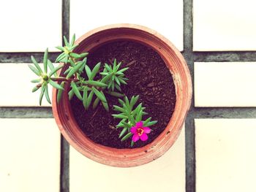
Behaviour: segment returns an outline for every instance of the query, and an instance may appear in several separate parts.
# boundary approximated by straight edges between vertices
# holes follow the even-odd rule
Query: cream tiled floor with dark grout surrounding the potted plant
[[[4,1],[0,191],[256,191],[255,5],[254,0]],[[56,52],[63,34],[80,37],[110,23],[148,26],[170,39],[186,58],[194,85],[185,132],[175,145],[156,161],[129,169],[97,164],[69,150],[64,140],[60,145],[50,105],[43,101],[39,107],[38,95],[31,93],[35,77],[26,64],[28,55],[39,58],[46,47]]]

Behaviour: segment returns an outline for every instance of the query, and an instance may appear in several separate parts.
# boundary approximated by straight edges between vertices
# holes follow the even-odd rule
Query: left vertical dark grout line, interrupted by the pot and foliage
[[[70,1],[62,0],[62,36],[69,39]],[[62,38],[62,45],[64,40]],[[69,192],[69,144],[61,135],[61,177],[60,192]]]

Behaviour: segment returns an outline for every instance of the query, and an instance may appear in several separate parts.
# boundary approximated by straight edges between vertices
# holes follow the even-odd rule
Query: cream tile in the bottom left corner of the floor
[[[60,134],[55,120],[0,118],[0,154],[0,191],[59,191]]]

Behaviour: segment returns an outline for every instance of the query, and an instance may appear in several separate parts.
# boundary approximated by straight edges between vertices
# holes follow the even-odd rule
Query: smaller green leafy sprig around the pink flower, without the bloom
[[[118,114],[113,114],[112,116],[114,118],[120,118],[120,122],[116,126],[116,128],[123,128],[121,133],[119,134],[119,138],[121,138],[121,141],[124,141],[132,136],[130,129],[132,126],[135,126],[136,123],[139,121],[143,121],[143,126],[153,126],[157,123],[157,120],[151,120],[151,118],[148,118],[146,120],[143,120],[143,115],[147,115],[147,113],[144,111],[146,107],[142,106],[142,103],[138,104],[136,107],[136,103],[139,99],[139,96],[132,96],[132,98],[129,99],[127,96],[124,97],[124,100],[118,99],[120,106],[114,105],[114,110],[119,112]],[[134,145],[132,142],[131,145]]]

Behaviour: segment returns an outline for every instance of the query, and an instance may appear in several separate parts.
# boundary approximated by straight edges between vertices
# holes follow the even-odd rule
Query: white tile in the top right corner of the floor
[[[256,50],[255,0],[194,0],[194,50]]]

